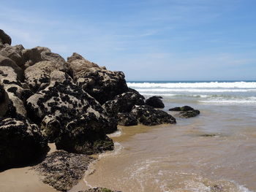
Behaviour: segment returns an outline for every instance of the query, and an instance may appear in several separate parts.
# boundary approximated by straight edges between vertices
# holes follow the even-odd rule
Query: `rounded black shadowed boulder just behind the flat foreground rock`
[[[111,123],[104,115],[91,110],[67,124],[56,139],[56,147],[86,155],[113,150],[112,139],[105,135],[105,131],[110,127]]]

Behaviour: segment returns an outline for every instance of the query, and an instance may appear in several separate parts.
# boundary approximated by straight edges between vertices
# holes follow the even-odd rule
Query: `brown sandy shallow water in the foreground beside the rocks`
[[[219,110],[202,110],[176,125],[121,127],[121,134],[112,134],[115,151],[99,155],[91,174],[71,191],[255,191],[255,119],[239,118],[241,109]]]

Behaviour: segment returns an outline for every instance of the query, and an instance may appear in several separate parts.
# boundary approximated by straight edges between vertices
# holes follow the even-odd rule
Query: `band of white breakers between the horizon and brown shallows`
[[[256,81],[129,81],[144,96],[161,95],[213,104],[256,104]]]

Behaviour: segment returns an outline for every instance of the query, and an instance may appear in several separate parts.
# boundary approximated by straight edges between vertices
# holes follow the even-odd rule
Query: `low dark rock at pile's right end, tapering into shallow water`
[[[165,123],[176,123],[176,119],[172,115],[162,110],[155,110],[153,107],[146,105],[135,105],[132,108],[132,114],[145,126],[156,126]]]

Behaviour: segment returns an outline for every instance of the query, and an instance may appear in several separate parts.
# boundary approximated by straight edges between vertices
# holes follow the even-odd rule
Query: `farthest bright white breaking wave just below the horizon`
[[[127,82],[131,88],[256,88],[256,82]]]

